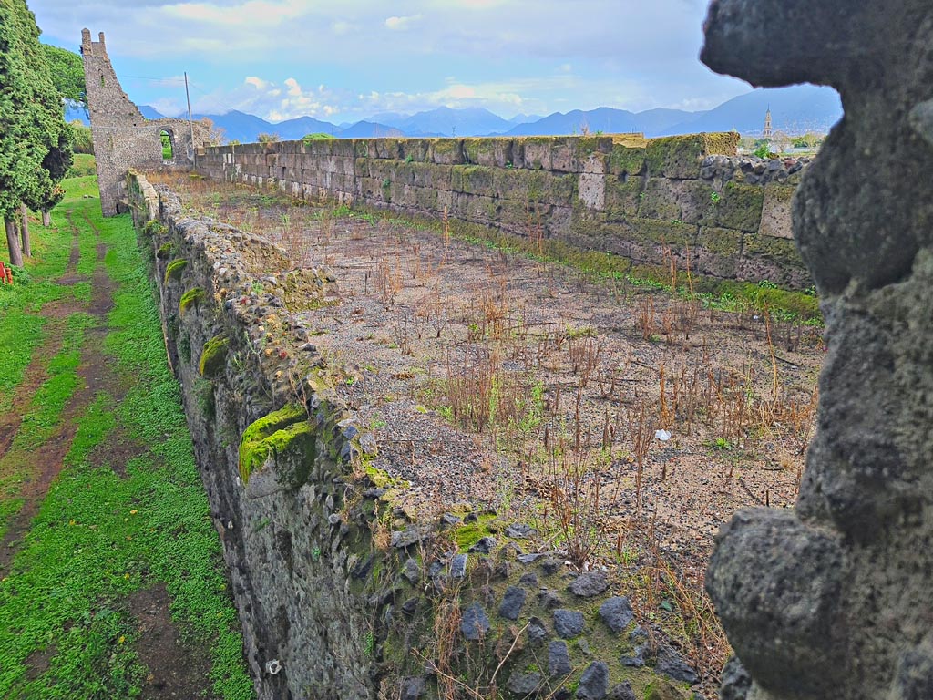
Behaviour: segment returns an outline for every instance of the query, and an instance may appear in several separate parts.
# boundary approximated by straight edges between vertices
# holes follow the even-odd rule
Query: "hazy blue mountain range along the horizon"
[[[297,140],[308,133],[329,133],[338,138],[370,138],[641,132],[652,138],[728,131],[759,135],[764,126],[765,112],[769,109],[774,131],[787,133],[827,132],[842,117],[842,103],[836,91],[813,85],[796,85],[747,92],[713,109],[699,112],[662,108],[630,112],[598,107],[565,114],[555,112],[547,117],[520,115],[503,119],[481,107],[438,107],[413,115],[383,112],[363,121],[338,125],[312,117],[272,123],[234,109],[226,114],[196,114],[194,119],[211,119],[217,128],[223,129],[229,141],[241,143],[256,141],[260,133],[275,133],[283,141]],[[140,111],[146,119],[162,117],[147,105],[141,106]],[[68,110],[65,116],[69,120],[79,119],[88,123],[83,110]]]

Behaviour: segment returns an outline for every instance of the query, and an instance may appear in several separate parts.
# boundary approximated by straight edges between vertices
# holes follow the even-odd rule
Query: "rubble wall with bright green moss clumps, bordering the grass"
[[[697,697],[696,672],[635,619],[611,571],[576,575],[489,511],[414,521],[394,505],[406,484],[369,465],[376,441],[290,311],[307,307],[298,289],[334,300],[327,270],[186,216],[142,176],[128,191],[260,700],[428,700],[457,683]]]

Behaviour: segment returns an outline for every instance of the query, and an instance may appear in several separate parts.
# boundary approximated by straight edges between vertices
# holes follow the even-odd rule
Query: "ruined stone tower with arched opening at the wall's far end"
[[[101,208],[105,217],[126,210],[124,177],[131,168],[159,168],[194,165],[195,147],[202,147],[208,133],[201,123],[192,125],[184,119],[146,119],[120,87],[104,45],[104,33],[91,41],[91,32],[81,31],[81,55],[91,137],[101,189]],[[169,135],[173,157],[162,158],[160,134]]]

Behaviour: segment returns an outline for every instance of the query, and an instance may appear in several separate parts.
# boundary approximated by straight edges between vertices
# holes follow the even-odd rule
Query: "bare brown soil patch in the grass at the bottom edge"
[[[172,622],[172,599],[161,583],[130,598],[130,613],[138,621],[135,648],[149,672],[143,700],[214,698],[210,693],[210,659],[202,648],[188,644]]]

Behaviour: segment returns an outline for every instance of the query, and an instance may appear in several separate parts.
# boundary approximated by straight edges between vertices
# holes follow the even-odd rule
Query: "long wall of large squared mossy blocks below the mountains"
[[[812,285],[790,233],[805,161],[735,157],[738,134],[357,139],[209,147],[200,172],[296,197],[558,238],[637,264]]]

